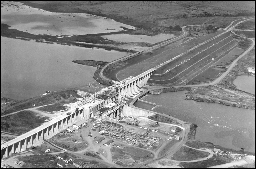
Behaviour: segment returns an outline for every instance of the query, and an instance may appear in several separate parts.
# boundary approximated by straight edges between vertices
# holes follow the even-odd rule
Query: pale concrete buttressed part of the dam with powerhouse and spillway
[[[73,124],[89,119],[92,115],[117,117],[122,100],[134,98],[155,69],[148,70],[136,77],[128,77],[121,82],[71,105],[71,110],[19,137],[1,145],[1,159],[25,151],[27,148],[41,145],[44,140],[55,136]]]

